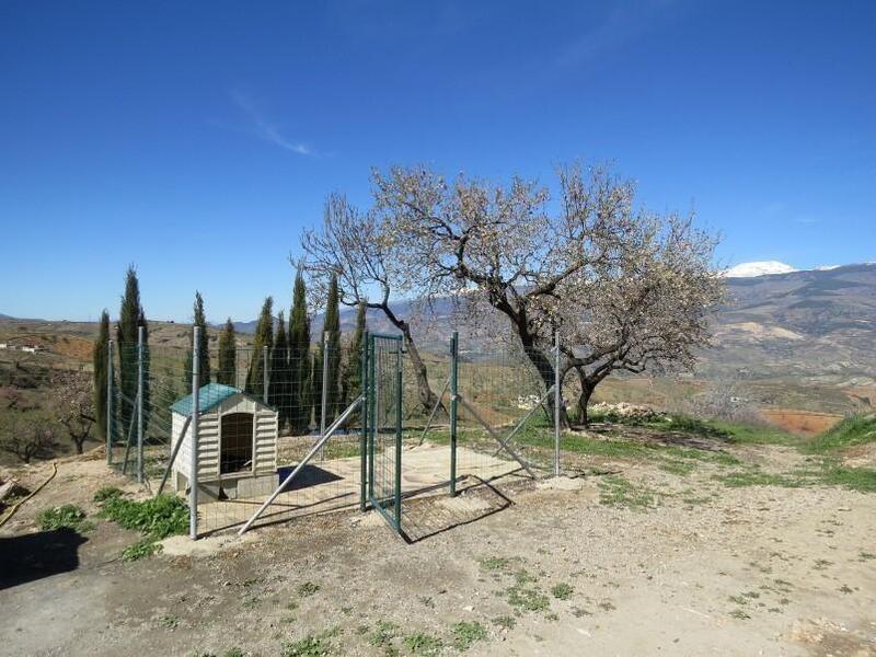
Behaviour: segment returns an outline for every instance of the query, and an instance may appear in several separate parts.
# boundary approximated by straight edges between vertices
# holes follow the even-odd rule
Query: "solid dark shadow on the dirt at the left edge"
[[[87,541],[69,528],[0,538],[0,590],[76,570]]]

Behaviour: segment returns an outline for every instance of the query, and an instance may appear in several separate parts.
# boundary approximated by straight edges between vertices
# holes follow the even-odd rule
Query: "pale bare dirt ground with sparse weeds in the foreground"
[[[802,459],[723,449],[765,471]],[[67,459],[0,529],[0,654],[876,655],[876,495],[728,487],[711,462],[587,465],[411,502],[428,525],[413,543],[350,511],[123,562],[139,537],[112,522],[36,528],[47,506],[96,511],[102,485],[136,492]],[[612,506],[618,473],[641,504]]]

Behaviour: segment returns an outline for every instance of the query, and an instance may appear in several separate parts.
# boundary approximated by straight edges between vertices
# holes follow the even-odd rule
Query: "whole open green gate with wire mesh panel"
[[[402,337],[370,335],[368,369],[368,499],[401,533]]]

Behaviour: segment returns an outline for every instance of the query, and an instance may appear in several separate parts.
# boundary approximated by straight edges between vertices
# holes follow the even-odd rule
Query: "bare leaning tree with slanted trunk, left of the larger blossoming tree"
[[[411,320],[391,307],[400,291],[429,299],[428,289],[416,287],[405,266],[395,227],[379,212],[361,212],[346,197],[333,194],[325,201],[323,224],[307,231],[301,240],[310,290],[321,299],[327,296],[332,276],[337,277],[338,300],[344,306],[364,304],[378,310],[402,334],[411,358],[419,403],[426,412],[437,402],[427,378],[426,366],[414,341]],[[377,299],[369,298],[377,292]]]

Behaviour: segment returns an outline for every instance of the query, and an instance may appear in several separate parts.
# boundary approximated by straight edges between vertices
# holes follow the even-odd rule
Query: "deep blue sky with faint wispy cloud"
[[[611,161],[725,264],[876,260],[874,2],[0,3],[0,312],[247,320],[371,166]]]

